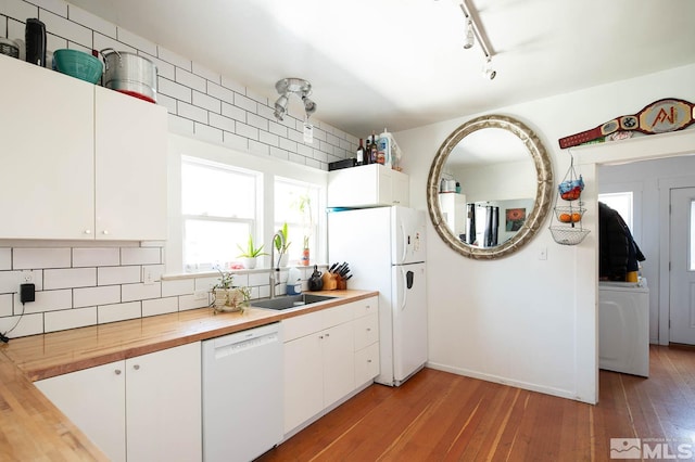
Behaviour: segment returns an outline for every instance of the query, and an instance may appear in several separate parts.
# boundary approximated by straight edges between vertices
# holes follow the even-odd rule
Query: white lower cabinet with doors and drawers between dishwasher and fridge
[[[286,435],[379,374],[377,310],[372,297],[282,321]]]

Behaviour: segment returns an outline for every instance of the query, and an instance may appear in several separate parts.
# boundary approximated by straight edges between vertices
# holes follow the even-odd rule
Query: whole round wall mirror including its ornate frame
[[[427,206],[442,240],[468,258],[507,256],[527,244],[551,210],[553,169],[538,136],[501,115],[454,130],[434,156]]]

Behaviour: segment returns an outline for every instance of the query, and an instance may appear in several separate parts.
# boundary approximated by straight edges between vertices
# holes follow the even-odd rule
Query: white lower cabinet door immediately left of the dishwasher
[[[200,342],[126,360],[128,462],[202,459]]]

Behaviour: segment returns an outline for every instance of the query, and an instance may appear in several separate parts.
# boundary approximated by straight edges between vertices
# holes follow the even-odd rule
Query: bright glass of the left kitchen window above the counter
[[[261,174],[193,157],[181,159],[184,268],[229,268],[237,244],[257,241]]]

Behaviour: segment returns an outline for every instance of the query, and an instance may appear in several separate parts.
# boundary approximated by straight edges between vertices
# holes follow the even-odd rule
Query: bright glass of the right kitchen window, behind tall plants
[[[289,261],[299,262],[305,241],[309,248],[309,258],[318,257],[318,206],[319,187],[276,177],[275,179],[275,230],[288,224]]]

